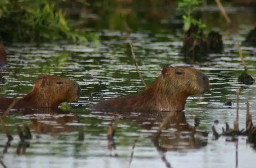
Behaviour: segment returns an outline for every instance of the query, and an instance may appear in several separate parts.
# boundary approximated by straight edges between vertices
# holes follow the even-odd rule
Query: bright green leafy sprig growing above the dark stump
[[[177,10],[184,11],[186,15],[182,16],[184,20],[184,31],[188,31],[191,24],[198,25],[199,30],[202,30],[206,27],[204,23],[202,23],[201,19],[195,19],[192,17],[192,12],[199,8],[199,5],[202,4],[202,0],[180,0],[178,3]]]

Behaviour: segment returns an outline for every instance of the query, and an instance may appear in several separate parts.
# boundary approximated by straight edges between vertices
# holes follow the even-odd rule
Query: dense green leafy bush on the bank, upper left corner
[[[71,39],[86,42],[87,34],[68,26],[65,0],[0,0],[0,35],[4,41],[43,42]]]

